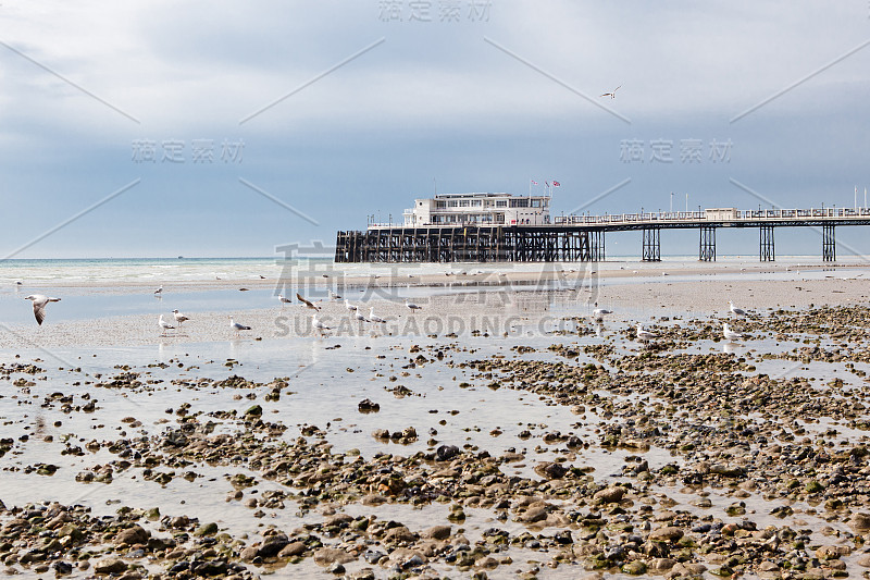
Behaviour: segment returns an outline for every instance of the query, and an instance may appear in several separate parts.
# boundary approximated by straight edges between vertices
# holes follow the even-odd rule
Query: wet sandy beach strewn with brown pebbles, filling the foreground
[[[186,311],[166,336],[153,313],[52,320],[63,300],[9,325],[0,560],[128,580],[860,576],[870,310],[842,270],[341,287],[385,323],[313,286],[316,311],[282,307],[269,281],[67,286],[171,322],[212,291],[271,306]]]

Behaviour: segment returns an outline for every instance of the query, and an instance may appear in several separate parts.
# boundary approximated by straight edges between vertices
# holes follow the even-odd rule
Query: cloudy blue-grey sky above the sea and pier
[[[435,184],[556,180],[555,213],[870,186],[867,0],[3,0],[0,41],[3,257],[273,256]],[[862,232],[837,236],[870,254]],[[778,230],[778,255],[820,248]]]

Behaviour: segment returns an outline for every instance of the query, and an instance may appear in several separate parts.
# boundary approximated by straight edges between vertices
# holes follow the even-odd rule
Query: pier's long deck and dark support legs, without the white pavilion
[[[557,215],[544,224],[371,223],[364,232],[338,232],[336,262],[554,262],[602,261],[608,232],[641,232],[641,259],[661,260],[662,230],[698,230],[698,259],[716,261],[721,227],[757,229],[760,261],[775,260],[776,227],[821,232],[822,260],[836,260],[835,229],[870,225],[870,208],[810,208]]]

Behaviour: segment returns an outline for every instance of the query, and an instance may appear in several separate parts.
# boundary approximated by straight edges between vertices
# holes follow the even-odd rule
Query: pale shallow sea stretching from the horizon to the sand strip
[[[718,258],[716,264],[730,268],[710,274],[710,262],[696,256],[664,256],[661,262],[643,262],[636,256],[613,256],[602,262],[494,262],[494,263],[335,263],[332,256],[291,256],[288,258],[89,258],[89,259],[9,259],[0,261],[0,323],[33,322],[33,312],[22,307],[29,294],[61,297],[64,307],[51,308],[51,317],[61,320],[91,320],[105,317],[160,312],[153,292],[163,286],[163,296],[172,295],[173,308],[184,312],[239,310],[271,306],[278,294],[293,297],[296,292],[312,297],[327,297],[327,289],[344,291],[345,280],[365,280],[371,286],[394,284],[390,299],[455,293],[504,291],[498,273],[579,271],[583,284],[645,284],[709,279],[775,280],[821,279],[860,275],[858,266],[823,263],[818,256],[783,256],[775,262],[759,264],[755,256]],[[761,266],[761,267],[760,267]],[[801,271],[804,269],[804,271]],[[626,271],[631,277],[598,277],[604,271]],[[745,270],[745,271],[741,271]],[[422,286],[413,277],[438,273],[473,274],[464,282],[457,277]],[[670,273],[664,277],[662,274]],[[410,276],[410,277],[409,277]],[[546,277],[546,276],[545,276]],[[316,281],[316,287],[310,282]],[[471,284],[469,284],[471,280]],[[222,284],[221,281],[225,282]],[[246,281],[249,292],[238,292]],[[273,283],[264,283],[272,281]],[[202,283],[209,282],[209,285]],[[577,282],[574,282],[575,284]],[[512,289],[564,289],[562,281],[519,283]],[[378,291],[374,291],[378,292]],[[25,305],[26,306],[26,305]]]

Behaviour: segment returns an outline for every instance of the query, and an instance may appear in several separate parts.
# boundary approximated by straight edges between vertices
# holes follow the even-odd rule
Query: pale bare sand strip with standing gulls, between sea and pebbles
[[[577,284],[562,288],[534,288],[531,285],[453,287],[456,292],[430,292],[423,296],[414,296],[414,301],[423,307],[419,312],[410,312],[399,293],[384,297],[376,292],[377,287],[361,286],[373,292],[365,293],[360,298],[351,298],[351,303],[358,305],[366,317],[369,308],[374,308],[377,316],[386,319],[387,323],[358,322],[353,313],[345,308],[344,300],[315,300],[315,305],[321,308],[316,312],[319,319],[331,328],[324,333],[312,329],[311,317],[314,311],[301,306],[295,297],[294,303],[285,308],[271,306],[185,310],[184,313],[190,320],[182,329],[171,331],[169,336],[160,335],[156,313],[52,321],[49,312],[42,326],[30,322],[7,325],[8,332],[0,334],[0,348],[129,347],[306,336],[414,337],[450,332],[461,335],[474,331],[492,335],[511,335],[518,332],[540,334],[552,329],[575,332],[576,325],[569,324],[569,321],[582,319],[583,324],[588,324],[588,316],[596,303],[613,311],[608,317],[609,323],[633,325],[661,317],[728,317],[729,299],[756,314],[769,309],[793,310],[870,301],[870,285],[863,279],[681,281],[674,275],[673,279],[644,284],[635,283],[631,277],[609,280],[617,282],[592,286]],[[171,293],[161,299],[160,305],[153,306],[160,306],[160,311],[165,311],[164,318],[174,323],[170,313],[173,308]],[[229,314],[253,330],[237,337],[229,328]]]

